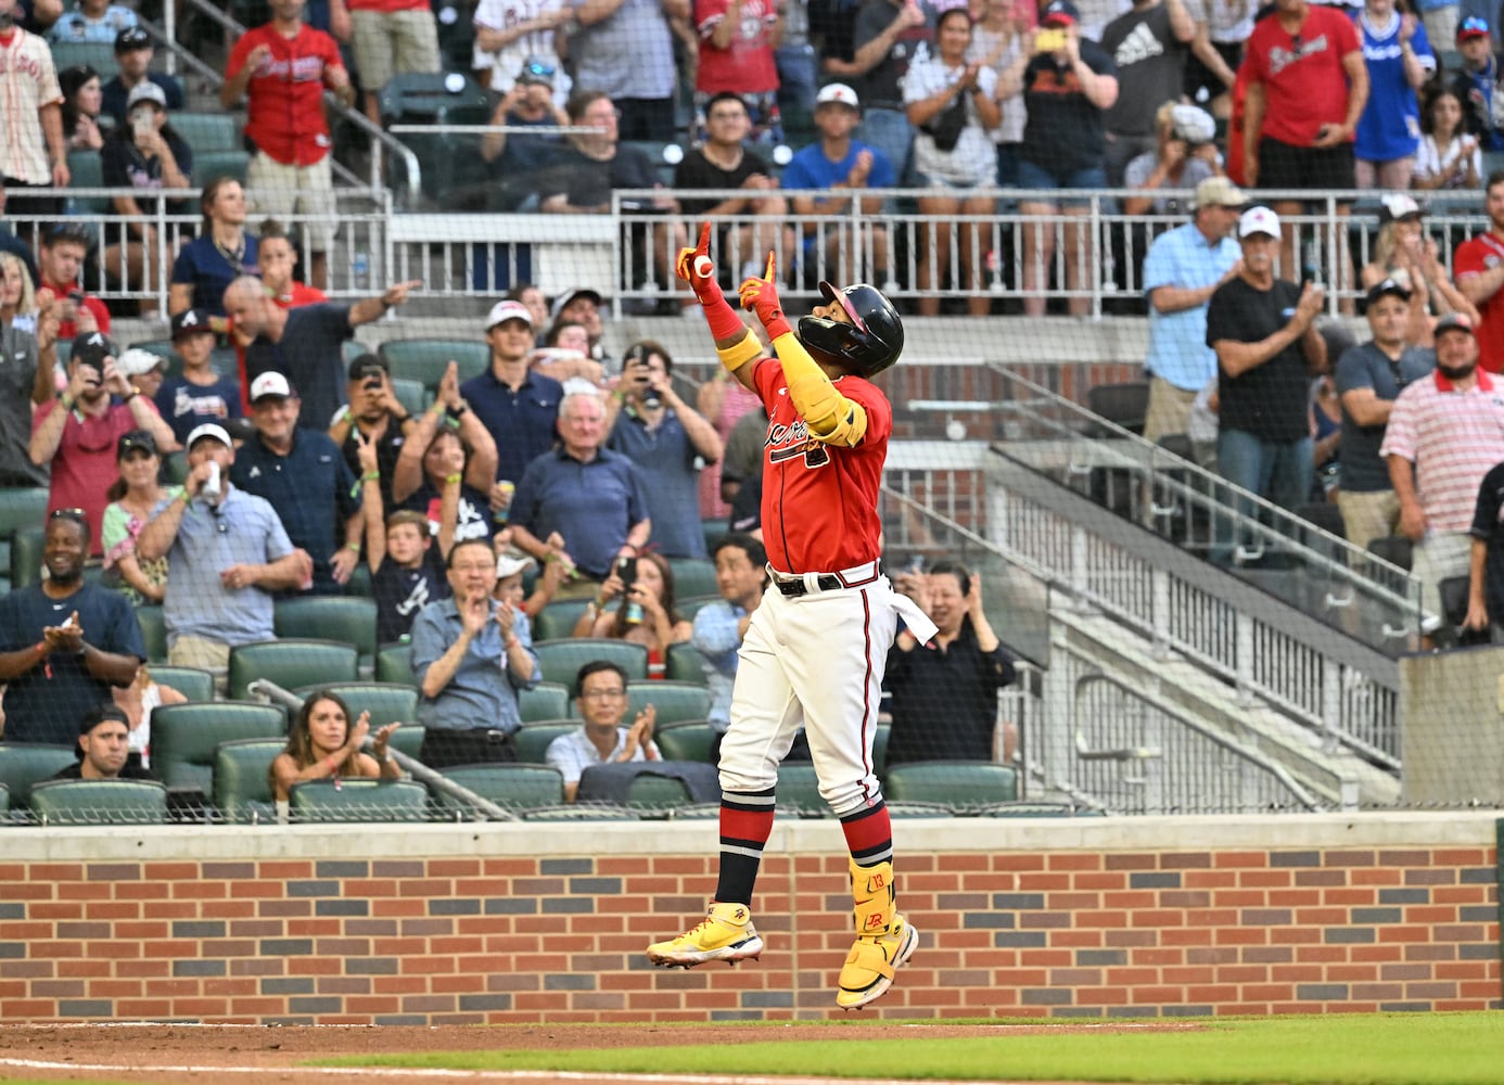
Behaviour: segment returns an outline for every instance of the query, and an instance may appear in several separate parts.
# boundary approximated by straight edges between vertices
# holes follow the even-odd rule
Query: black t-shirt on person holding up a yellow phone
[[[1081,39],[1081,60],[1098,75],[1117,75],[1113,59],[1089,38]],[[1024,68],[1023,83],[1029,120],[1018,153],[1056,174],[1099,170],[1107,147],[1107,114],[1081,93],[1071,66],[1056,65],[1053,53],[1041,53]],[[1155,108],[1160,104],[1163,99]]]

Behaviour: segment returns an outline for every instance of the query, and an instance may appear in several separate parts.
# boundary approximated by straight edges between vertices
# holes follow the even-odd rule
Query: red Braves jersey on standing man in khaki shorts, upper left
[[[340,47],[310,26],[283,38],[268,23],[247,30],[230,50],[226,78],[235,78],[257,45],[271,57],[247,86],[245,134],[256,147],[283,165],[313,165],[329,153],[329,125],[323,119],[323,77],[341,69]]]

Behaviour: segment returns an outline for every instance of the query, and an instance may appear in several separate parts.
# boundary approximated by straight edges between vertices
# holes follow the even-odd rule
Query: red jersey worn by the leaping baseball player
[[[832,573],[878,558],[883,526],[877,491],[883,484],[893,409],[877,385],[839,377],[842,395],[866,412],[866,436],[856,448],[809,436],[788,395],[784,367],[755,362],[752,380],[767,407],[763,440],[763,546],[781,573]]]

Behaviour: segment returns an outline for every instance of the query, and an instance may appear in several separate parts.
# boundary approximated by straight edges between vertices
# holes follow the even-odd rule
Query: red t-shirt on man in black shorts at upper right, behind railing
[[[1348,72],[1342,59],[1361,48],[1352,20],[1336,8],[1307,8],[1296,35],[1284,32],[1278,15],[1257,23],[1242,63],[1250,81],[1263,84],[1260,135],[1308,147],[1322,125],[1340,125],[1348,117]]]

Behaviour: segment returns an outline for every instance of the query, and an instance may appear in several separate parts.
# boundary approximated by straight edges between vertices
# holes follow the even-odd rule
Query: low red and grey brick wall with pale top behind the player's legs
[[[1499,1008],[1492,815],[896,824],[884,1016]],[[839,1016],[833,822],[781,822],[761,962],[651,969],[714,822],[6,830],[0,1019]]]

